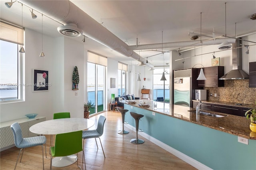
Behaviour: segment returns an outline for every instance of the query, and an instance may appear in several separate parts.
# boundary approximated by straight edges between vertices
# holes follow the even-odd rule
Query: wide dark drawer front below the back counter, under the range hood
[[[227,114],[236,115],[236,116],[244,116],[242,107],[213,104],[212,111],[220,112],[220,113],[227,113]]]

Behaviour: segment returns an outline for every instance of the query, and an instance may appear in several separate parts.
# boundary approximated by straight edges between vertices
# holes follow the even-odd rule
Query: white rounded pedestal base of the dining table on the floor
[[[77,161],[76,154],[69,155],[69,156],[60,156],[54,157],[52,159],[52,166],[55,167],[64,167],[74,164]]]

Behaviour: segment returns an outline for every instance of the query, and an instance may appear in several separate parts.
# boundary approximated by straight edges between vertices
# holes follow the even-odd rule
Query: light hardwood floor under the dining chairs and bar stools
[[[86,158],[87,170],[194,170],[183,160],[170,154],[166,150],[153,144],[147,139],[139,135],[139,138],[145,140],[143,144],[132,144],[130,139],[136,137],[136,133],[132,130],[128,134],[118,134],[118,130],[122,130],[122,117],[119,112],[104,112],[90,119],[97,124],[98,117],[103,115],[106,117],[104,126],[104,134],[100,137],[103,149],[106,155],[102,152],[99,139],[97,138],[99,149],[94,138],[86,139],[84,141],[84,152]],[[96,128],[96,125],[91,129]],[[50,154],[49,144],[50,135],[46,135],[46,152],[47,158],[44,155],[44,169],[50,169]],[[0,155],[0,170],[14,169],[16,158],[19,153],[19,148],[13,147],[4,150]],[[82,152],[78,154],[78,165],[82,166]],[[83,164],[84,170],[84,164]],[[18,162],[16,170],[38,170],[42,169],[42,148],[41,146],[34,146],[24,150],[22,163]],[[57,168],[52,167],[52,170],[74,170],[79,169],[75,164],[70,166]]]

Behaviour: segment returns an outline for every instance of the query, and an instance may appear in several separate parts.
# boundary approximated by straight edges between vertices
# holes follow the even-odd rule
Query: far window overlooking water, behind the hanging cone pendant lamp
[[[164,69],[166,72],[166,81],[160,81],[163,69],[154,69],[153,71],[153,100],[157,97],[163,97],[164,102],[170,102],[170,69]],[[161,100],[160,100],[161,101]]]

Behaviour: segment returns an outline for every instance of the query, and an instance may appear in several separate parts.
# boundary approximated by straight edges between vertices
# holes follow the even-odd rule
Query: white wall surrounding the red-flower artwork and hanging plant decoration
[[[47,120],[53,113],[69,111],[71,117],[83,117],[83,77],[84,47],[69,38],[43,37],[45,57],[39,57],[41,33],[26,29],[25,34],[25,83],[32,83],[32,69],[48,70],[48,82],[52,84],[48,91],[32,92],[25,87],[25,101],[0,105],[0,121],[9,121],[25,117],[28,113],[38,113]],[[80,83],[78,96],[72,91],[72,73],[78,67]]]

